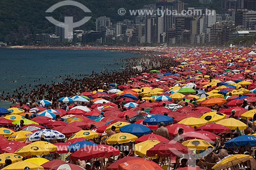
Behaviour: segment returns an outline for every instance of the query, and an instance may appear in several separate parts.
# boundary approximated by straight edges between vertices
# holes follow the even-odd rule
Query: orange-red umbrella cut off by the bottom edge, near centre
[[[132,170],[135,167],[136,169],[155,169],[155,170],[163,170],[163,168],[150,160],[131,160],[124,163],[120,163],[118,166],[118,170]]]

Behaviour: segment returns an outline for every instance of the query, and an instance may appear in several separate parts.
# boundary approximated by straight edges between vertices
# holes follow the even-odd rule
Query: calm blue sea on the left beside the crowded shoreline
[[[13,94],[16,88],[30,91],[37,84],[62,82],[65,75],[92,74],[102,69],[120,70],[119,59],[139,57],[137,54],[93,50],[28,50],[0,48],[0,95]],[[117,63],[118,62],[118,63]],[[59,77],[61,76],[61,77]],[[22,91],[21,90],[21,91]],[[6,95],[6,94],[4,94]],[[0,107],[9,108],[10,102]]]

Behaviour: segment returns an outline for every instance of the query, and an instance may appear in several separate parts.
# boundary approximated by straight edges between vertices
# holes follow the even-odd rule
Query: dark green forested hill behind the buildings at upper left
[[[143,5],[155,4],[156,0],[76,0],[87,6],[92,13],[84,13],[74,6],[60,7],[53,13],[45,13],[60,0],[1,0],[0,1],[0,41],[22,44],[31,40],[36,33],[53,33],[55,27],[45,17],[53,16],[63,22],[64,16],[73,16],[75,21],[84,16],[92,19],[79,29],[95,30],[95,20],[99,16],[110,17],[113,22],[133,19],[129,15],[120,16],[119,8],[139,9]],[[198,2],[198,0],[189,0]],[[187,1],[189,3],[189,1]],[[219,0],[215,0],[219,1]],[[192,3],[193,4],[193,3]]]

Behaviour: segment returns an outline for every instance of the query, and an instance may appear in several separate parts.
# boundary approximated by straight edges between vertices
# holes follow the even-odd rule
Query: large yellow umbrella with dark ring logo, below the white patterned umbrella
[[[32,142],[25,147],[18,149],[14,154],[21,156],[32,156],[32,155],[48,155],[50,152],[55,152],[57,147],[46,141]]]

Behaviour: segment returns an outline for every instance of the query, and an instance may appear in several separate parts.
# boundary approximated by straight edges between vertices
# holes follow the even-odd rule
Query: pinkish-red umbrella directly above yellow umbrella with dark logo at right
[[[215,142],[216,138],[220,138],[220,136],[207,131],[186,132],[181,137],[184,139],[203,139],[207,142]]]

